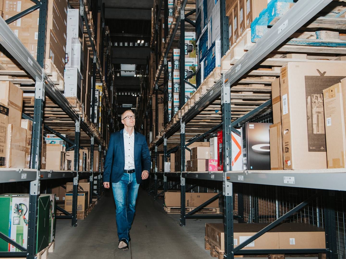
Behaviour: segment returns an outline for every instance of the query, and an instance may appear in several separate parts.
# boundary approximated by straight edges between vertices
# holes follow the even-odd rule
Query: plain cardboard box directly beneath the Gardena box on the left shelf
[[[65,170],[66,152],[60,144],[47,144],[46,170]]]

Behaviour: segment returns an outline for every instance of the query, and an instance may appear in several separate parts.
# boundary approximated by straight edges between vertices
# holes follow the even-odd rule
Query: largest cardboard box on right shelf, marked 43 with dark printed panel
[[[323,90],[346,77],[345,67],[329,61],[281,68],[284,169],[327,168]]]

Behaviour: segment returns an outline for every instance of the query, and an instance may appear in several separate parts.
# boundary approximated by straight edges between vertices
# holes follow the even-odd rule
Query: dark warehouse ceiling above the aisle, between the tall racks
[[[148,45],[151,37],[153,2],[153,0],[103,0],[105,24],[109,27],[113,46],[113,64],[116,75],[119,76],[116,77],[119,114],[128,109],[128,107],[121,107],[122,104],[133,104],[133,106],[136,104],[136,96],[132,93],[139,92],[140,77],[121,76],[121,74],[124,75],[121,64],[136,65],[134,66],[136,74],[145,70],[147,58],[150,55]]]

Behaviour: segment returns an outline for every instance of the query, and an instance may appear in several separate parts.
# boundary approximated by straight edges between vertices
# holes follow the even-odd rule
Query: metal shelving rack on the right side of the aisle
[[[225,19],[225,0],[219,0],[221,11],[221,46],[222,55],[228,49],[228,37],[226,32],[228,29],[228,20]],[[167,186],[167,178],[175,177],[180,182],[173,184],[173,186],[181,185],[181,226],[185,226],[186,218],[198,218],[191,214],[197,212],[199,209],[210,203],[213,199],[205,202],[194,211],[185,214],[185,192],[190,188],[185,188],[185,179],[199,179],[205,181],[219,181],[223,184],[222,196],[224,199],[224,226],[225,226],[225,258],[234,258],[235,255],[260,255],[272,253],[326,253],[327,258],[338,258],[337,242],[336,242],[336,217],[333,207],[335,202],[334,191],[346,191],[344,182],[346,180],[345,169],[324,169],[324,170],[278,170],[278,171],[231,171],[231,131],[238,133],[236,127],[242,125],[244,122],[251,121],[251,119],[258,118],[259,116],[265,117],[271,110],[271,100],[263,102],[256,108],[251,109],[245,115],[234,116],[232,113],[231,105],[231,87],[245,75],[261,75],[255,66],[261,62],[268,54],[276,48],[285,44],[294,32],[309,22],[310,19],[315,17],[319,11],[325,8],[332,0],[299,0],[294,6],[285,13],[276,24],[268,30],[268,32],[258,42],[252,46],[236,63],[231,66],[227,71],[221,71],[221,79],[212,85],[206,94],[201,98],[194,101],[189,105],[188,111],[182,109],[178,112],[176,118],[172,118],[171,123],[165,127],[164,131],[158,135],[149,144],[152,152],[155,152],[155,166],[154,172],[151,173],[154,177],[154,184],[149,182],[149,193],[151,187],[154,186],[154,198],[156,199],[158,176],[163,176],[163,189],[172,188]],[[158,1],[158,6],[161,10],[162,0]],[[185,0],[181,1],[182,10]],[[183,19],[183,15],[180,16]],[[345,24],[345,18],[338,20],[339,23]],[[157,27],[156,27],[157,29]],[[157,31],[156,31],[157,32]],[[173,31],[173,33],[175,33]],[[154,36],[155,37],[155,36]],[[172,38],[171,38],[172,39]],[[158,67],[158,73],[161,73],[162,67]],[[273,73],[273,72],[271,72]],[[264,75],[264,74],[263,74]],[[273,73],[270,75],[277,74]],[[157,80],[155,81],[154,88],[157,88]],[[157,98],[156,98],[157,100]],[[213,113],[222,111],[222,115],[214,116],[210,122],[203,121],[206,116],[212,116]],[[146,116],[146,114],[144,114]],[[202,122],[202,123],[201,123]],[[151,125],[152,123],[150,123]],[[143,126],[142,126],[143,128]],[[222,128],[223,131],[223,172],[186,172],[185,171],[185,152],[181,152],[180,172],[157,172],[157,153],[164,153],[164,161],[167,161],[167,155],[175,152],[179,146],[184,150],[195,141],[203,140],[208,136],[215,135],[215,133]],[[188,139],[188,144],[185,144],[185,139]],[[287,181],[289,178],[289,181]],[[286,179],[286,180],[285,180]],[[178,180],[178,181],[179,181]],[[298,189],[312,189],[316,194],[312,194],[303,202],[294,206],[287,213],[269,224],[267,227],[256,233],[253,237],[247,239],[245,242],[234,247],[233,239],[233,219],[237,218],[233,214],[234,207],[234,189],[236,185],[253,184],[258,186],[285,186],[297,187]],[[218,194],[219,195],[219,194]],[[217,195],[217,196],[218,196]],[[239,194],[238,194],[239,195]],[[260,237],[268,230],[277,226],[283,220],[289,218],[293,213],[299,211],[306,206],[318,195],[326,200],[324,203],[323,220],[325,226],[326,236],[326,249],[279,249],[279,250],[241,250],[249,243]],[[217,198],[217,197],[214,197]],[[239,196],[238,196],[239,199]],[[239,206],[240,203],[238,203]],[[238,210],[241,209],[238,207]],[[240,213],[239,213],[240,214]],[[344,214],[343,214],[344,215]],[[342,215],[342,217],[343,217]],[[239,217],[239,215],[238,215]]]

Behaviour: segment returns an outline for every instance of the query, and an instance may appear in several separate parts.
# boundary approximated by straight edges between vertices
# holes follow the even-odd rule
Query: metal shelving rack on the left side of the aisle
[[[73,178],[73,204],[72,213],[66,212],[57,206],[57,209],[61,210],[66,214],[62,216],[63,218],[72,219],[71,226],[77,226],[77,193],[78,193],[78,181],[80,179],[89,179],[90,190],[89,193],[93,193],[96,189],[97,198],[100,199],[100,189],[101,189],[101,179],[102,179],[102,168],[101,163],[99,163],[98,172],[93,172],[93,155],[94,146],[99,150],[99,161],[101,159],[101,152],[106,152],[107,146],[100,134],[93,131],[90,127],[90,123],[83,121],[81,116],[75,111],[75,109],[70,105],[62,93],[54,86],[49,77],[44,73],[44,53],[45,53],[45,35],[46,35],[46,17],[47,17],[47,2],[48,0],[33,1],[35,6],[28,10],[25,10],[18,15],[10,18],[10,20],[4,21],[0,18],[0,44],[5,48],[12,57],[18,61],[18,63],[24,68],[24,70],[30,75],[35,81],[35,105],[33,116],[27,114],[22,114],[25,119],[30,119],[33,121],[33,132],[32,132],[32,142],[31,142],[31,157],[30,165],[31,169],[13,169],[13,168],[2,168],[0,170],[0,183],[10,183],[10,182],[30,182],[30,198],[29,198],[29,215],[28,215],[28,240],[27,247],[22,247],[15,241],[8,238],[6,235],[0,233],[0,238],[10,243],[12,246],[18,248],[22,252],[0,252],[0,257],[26,257],[28,259],[35,258],[35,247],[36,247],[36,230],[37,230],[37,215],[38,215],[38,197],[40,195],[40,181],[41,180],[53,180],[53,179],[71,179]],[[113,71],[109,69],[111,66],[110,53],[107,53],[106,71],[101,68],[101,63],[99,60],[98,53],[95,49],[94,39],[91,34],[91,30],[88,24],[88,18],[86,16],[86,9],[84,7],[83,0],[79,0],[80,3],[80,14],[84,19],[84,28],[89,36],[90,48],[93,55],[93,93],[95,95],[95,83],[96,81],[102,82],[103,84],[114,84]],[[102,17],[102,37],[106,38],[109,42],[109,35],[106,35],[104,30],[104,15],[102,1],[99,1],[101,6],[101,17]],[[12,32],[12,30],[7,25],[8,23],[15,21],[31,11],[39,9],[39,28],[38,28],[38,54],[37,61],[31,56],[29,51],[20,42],[18,37]],[[103,46],[102,46],[103,48]],[[103,51],[103,50],[102,50]],[[114,122],[113,107],[110,102],[110,96],[108,93],[108,87],[104,87],[104,98],[106,99],[107,113],[109,115],[109,122],[111,125],[110,132],[115,131],[117,124]],[[49,96],[58,107],[64,112],[65,117],[62,125],[56,122],[51,122],[44,115],[44,102],[45,97]],[[116,99],[115,99],[116,100]],[[94,98],[92,98],[94,103]],[[116,107],[116,105],[115,105]],[[94,105],[92,105],[94,108]],[[117,110],[115,109],[115,112]],[[92,117],[94,112],[91,113]],[[92,118],[93,121],[93,118]],[[41,170],[40,169],[40,157],[41,157],[41,147],[43,141],[43,128],[46,131],[56,134],[58,137],[62,138],[67,143],[67,149],[71,150],[74,148],[74,169],[72,171],[55,171],[55,170]],[[63,128],[63,131],[61,131]],[[98,128],[93,127],[93,128]],[[64,137],[63,133],[74,133],[74,138],[71,139]],[[79,150],[84,147],[90,147],[90,171],[79,171]],[[94,177],[97,176],[97,180]],[[94,181],[96,181],[94,187]],[[92,196],[90,195],[90,202],[92,202]]]

